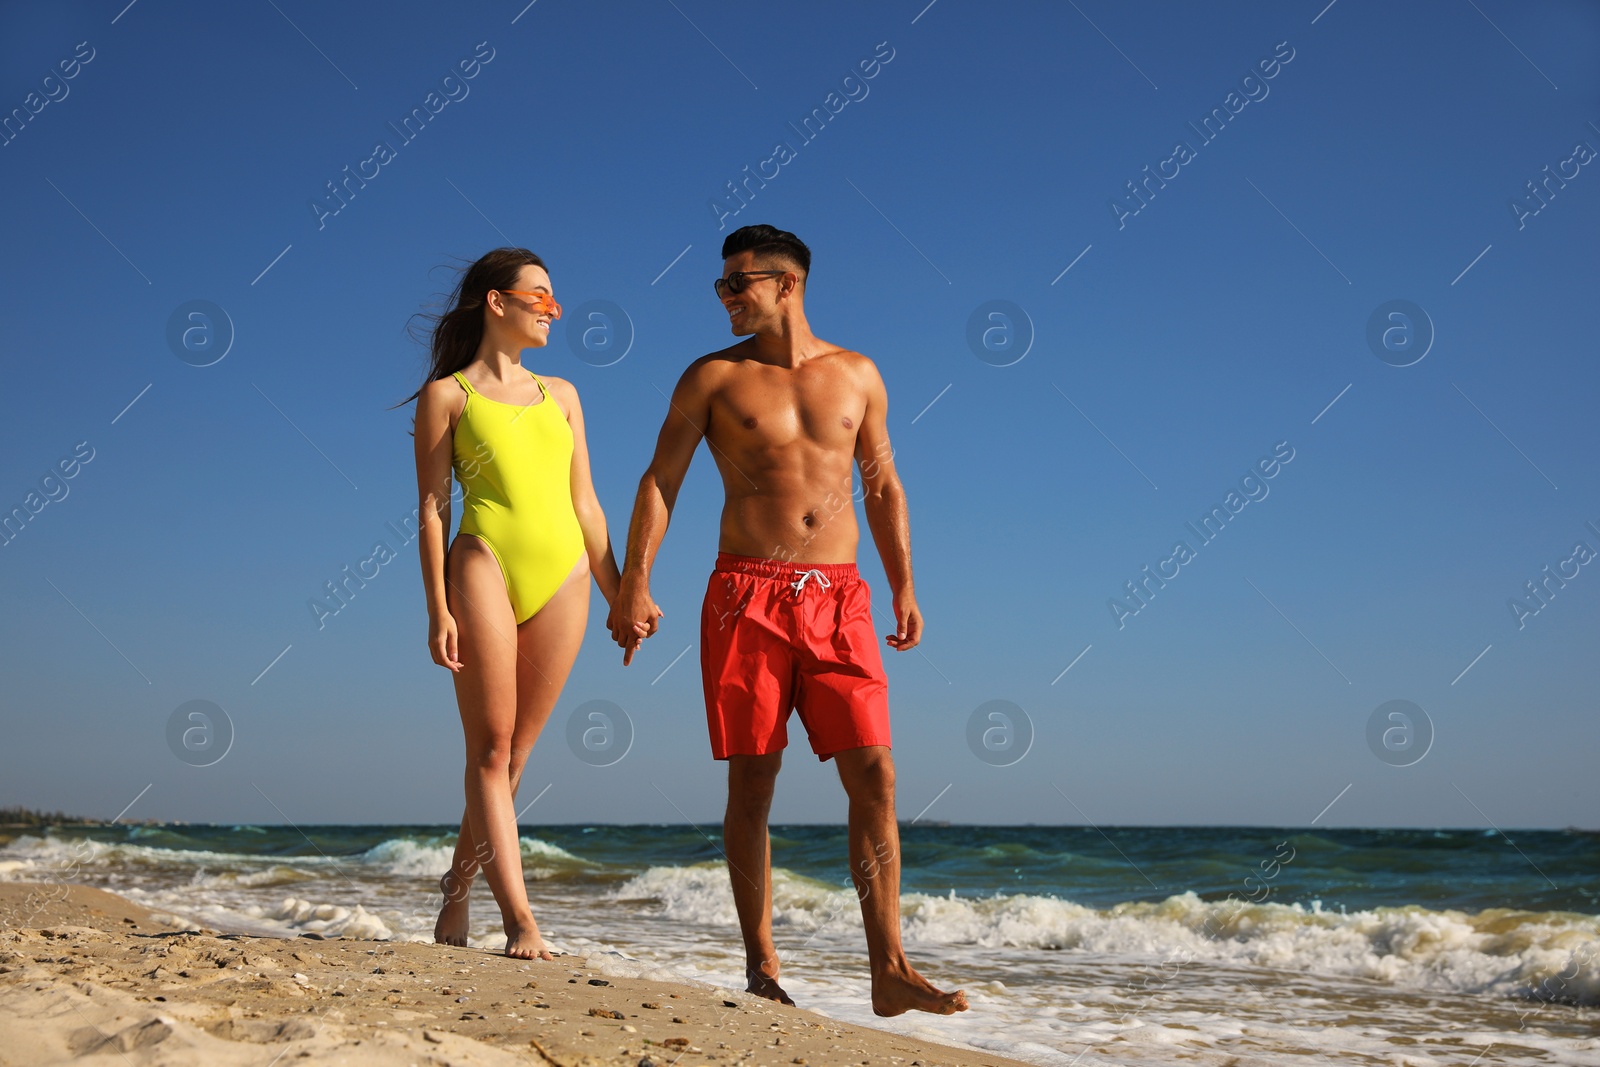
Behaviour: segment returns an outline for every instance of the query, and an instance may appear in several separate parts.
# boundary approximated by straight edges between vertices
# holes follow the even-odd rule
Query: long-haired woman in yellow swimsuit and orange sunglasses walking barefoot
[[[589,576],[610,605],[618,566],[589,477],[578,390],[522,365],[562,309],[544,262],[496,248],[462,274],[434,320],[416,398],[422,585],[429,651],[454,675],[467,741],[467,809],[434,926],[467,944],[478,867],[506,928],[506,955],[549,960],[528,905],[512,798],[589,621]],[[445,552],[450,478],[461,530]]]

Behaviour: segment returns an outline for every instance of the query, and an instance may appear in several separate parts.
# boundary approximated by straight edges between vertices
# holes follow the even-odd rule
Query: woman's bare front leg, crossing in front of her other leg
[[[549,952],[538,936],[538,923],[528,905],[517,840],[517,813],[512,803],[517,621],[499,561],[477,537],[456,537],[446,561],[446,577],[450,613],[461,635],[462,667],[456,672],[454,681],[467,749],[464,824],[472,835],[470,845],[458,841],[456,861],[459,864],[464,859],[461,851],[466,845],[469,857],[483,867],[494,902],[499,904],[506,953],[547,960]],[[459,869],[458,864],[451,865],[453,873]],[[451,881],[450,875],[446,881]],[[454,880],[450,886],[459,888],[462,897],[459,905],[466,904],[469,885],[466,880]]]

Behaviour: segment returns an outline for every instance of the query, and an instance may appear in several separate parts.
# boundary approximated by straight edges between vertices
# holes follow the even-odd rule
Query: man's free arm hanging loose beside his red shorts
[[[861,467],[862,504],[867,528],[883,560],[883,573],[894,593],[894,633],[885,637],[890,648],[909,651],[922,641],[922,611],[910,579],[910,517],[906,512],[906,490],[894,474],[894,450],[890,445],[888,389],[872,360],[866,365],[867,411],[856,434],[856,464]]]

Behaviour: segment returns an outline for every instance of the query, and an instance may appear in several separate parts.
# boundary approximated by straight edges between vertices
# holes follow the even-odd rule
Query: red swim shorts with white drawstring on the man
[[[821,760],[890,744],[890,686],[854,563],[720,552],[701,608],[701,681],[718,760],[782,750],[790,710]]]

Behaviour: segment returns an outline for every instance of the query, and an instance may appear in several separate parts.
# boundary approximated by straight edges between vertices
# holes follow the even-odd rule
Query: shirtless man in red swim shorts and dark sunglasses
[[[856,573],[851,493],[854,461],[894,593],[896,632],[885,640],[896,651],[912,649],[922,640],[922,614],[883,379],[867,357],[811,333],[811,251],[798,237],[746,226],[728,235],[722,256],[717,294],[734,336],[746,339],[694,360],[672,392],[656,456],[638,485],[611,635],[627,649],[626,664],[638,633],[659,625],[650,568],[704,437],[725,502],[717,569],[701,611],[701,675],[712,755],[728,761],[723,845],[749,992],[794,1003],[778,984],[766,835],[794,709],[813,752],[835,761],[850,797],[850,875],[866,923],[872,1009],[965,1011],[960,990],[934,989],[901,949],[888,681],[867,584]]]

